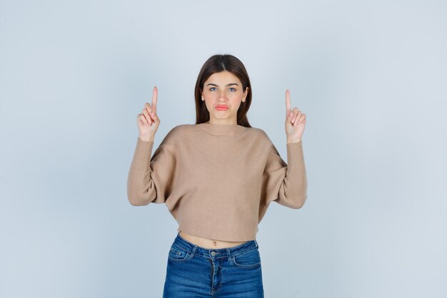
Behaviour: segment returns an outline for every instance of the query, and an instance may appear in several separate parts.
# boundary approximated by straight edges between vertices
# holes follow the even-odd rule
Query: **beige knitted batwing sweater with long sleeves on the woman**
[[[306,201],[302,145],[286,144],[286,164],[262,129],[181,124],[152,157],[154,141],[137,139],[127,196],[135,206],[165,203],[178,232],[253,240],[270,202],[298,209]]]

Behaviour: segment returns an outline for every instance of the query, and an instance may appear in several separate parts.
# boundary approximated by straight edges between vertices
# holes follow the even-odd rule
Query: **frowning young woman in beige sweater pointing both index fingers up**
[[[127,194],[135,206],[165,203],[179,223],[163,297],[263,297],[258,223],[273,201],[298,209],[307,199],[306,114],[291,109],[286,90],[286,164],[267,134],[248,123],[245,66],[235,56],[214,55],[196,81],[196,124],[175,126],[151,157],[157,100],[154,87],[151,104],[137,116]]]

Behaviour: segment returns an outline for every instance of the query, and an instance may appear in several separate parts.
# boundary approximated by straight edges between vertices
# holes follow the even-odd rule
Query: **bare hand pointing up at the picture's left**
[[[146,102],[141,114],[138,114],[136,121],[140,132],[139,138],[142,141],[154,141],[155,133],[159,129],[160,119],[157,115],[157,87],[154,86],[152,93],[152,103]]]

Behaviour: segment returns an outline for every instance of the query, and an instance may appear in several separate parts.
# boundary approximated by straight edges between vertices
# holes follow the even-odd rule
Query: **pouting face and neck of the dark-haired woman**
[[[243,91],[241,81],[229,71],[212,74],[204,83],[202,100],[209,111],[209,123],[237,124],[237,112],[245,101],[248,87]]]

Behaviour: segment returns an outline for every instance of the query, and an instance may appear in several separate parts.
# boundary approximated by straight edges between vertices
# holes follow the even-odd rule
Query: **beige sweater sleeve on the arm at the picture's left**
[[[136,140],[136,149],[127,177],[127,197],[134,206],[165,203],[172,192],[176,167],[173,131],[166,135],[151,158],[154,141]]]

